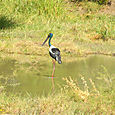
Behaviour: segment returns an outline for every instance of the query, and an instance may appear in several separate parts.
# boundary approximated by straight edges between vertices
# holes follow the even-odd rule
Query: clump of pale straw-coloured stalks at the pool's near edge
[[[64,89],[71,90],[75,95],[75,98],[77,97],[78,99],[81,99],[86,102],[89,96],[100,95],[99,91],[97,90],[91,78],[89,79],[89,81],[93,87],[92,92],[89,91],[89,86],[83,76],[81,76],[81,80],[84,86],[84,90],[81,90],[80,87],[78,86],[78,83],[73,81],[71,77],[63,78],[63,79],[66,81],[67,84]]]

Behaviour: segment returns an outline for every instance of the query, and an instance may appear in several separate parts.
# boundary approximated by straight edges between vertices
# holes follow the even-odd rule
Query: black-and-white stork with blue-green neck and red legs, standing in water
[[[54,76],[54,72],[55,72],[55,61],[57,61],[59,64],[62,63],[61,61],[61,55],[60,55],[60,50],[56,47],[54,47],[53,45],[51,45],[51,38],[53,37],[52,33],[48,34],[48,37],[46,38],[46,40],[43,42],[42,46],[46,43],[46,41],[49,39],[49,54],[50,56],[54,59],[52,60],[53,62],[53,72],[52,72],[52,78]]]

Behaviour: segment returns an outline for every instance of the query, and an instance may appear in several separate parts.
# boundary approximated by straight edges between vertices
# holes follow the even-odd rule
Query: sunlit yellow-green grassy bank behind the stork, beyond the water
[[[0,51],[46,55],[45,48],[41,53],[41,44],[52,32],[52,44],[62,55],[111,55],[115,52],[115,17],[101,12],[105,7],[61,0],[1,1]]]

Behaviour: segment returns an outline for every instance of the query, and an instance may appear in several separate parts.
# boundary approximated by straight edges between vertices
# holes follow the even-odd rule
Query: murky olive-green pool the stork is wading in
[[[62,78],[71,76],[78,81],[78,85],[83,89],[81,76],[87,81],[91,78],[96,86],[103,85],[103,80],[98,80],[103,76],[115,75],[115,58],[107,56],[90,56],[87,58],[77,58],[76,61],[64,62],[61,65],[56,63],[54,77],[55,91],[65,84]],[[5,91],[10,94],[23,94],[32,96],[47,95],[52,92],[52,63],[49,61],[32,64],[18,64],[11,59],[0,60],[0,84],[5,87]]]

